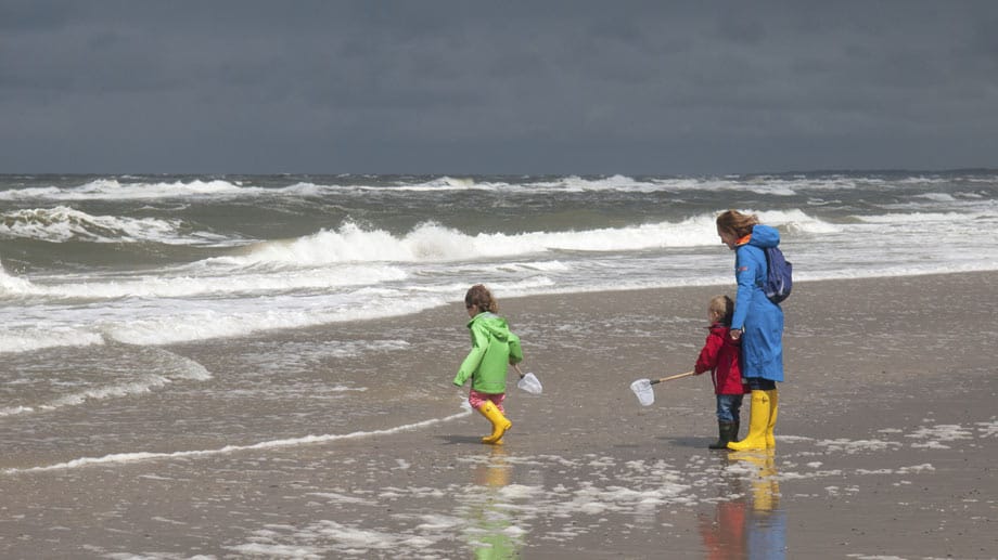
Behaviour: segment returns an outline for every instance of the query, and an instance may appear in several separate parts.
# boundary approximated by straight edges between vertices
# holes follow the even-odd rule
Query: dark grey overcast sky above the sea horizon
[[[967,167],[993,0],[0,0],[0,173]]]

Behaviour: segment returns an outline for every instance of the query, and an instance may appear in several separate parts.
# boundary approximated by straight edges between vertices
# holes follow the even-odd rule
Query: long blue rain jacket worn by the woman
[[[742,333],[742,377],[783,380],[783,310],[763,292],[765,247],[780,245],[780,232],[756,225],[747,243],[734,248],[738,296],[731,328]]]

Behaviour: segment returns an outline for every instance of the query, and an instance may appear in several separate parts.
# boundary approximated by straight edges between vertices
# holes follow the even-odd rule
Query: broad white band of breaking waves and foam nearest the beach
[[[781,229],[801,282],[998,270],[998,249],[978,226],[987,212],[930,214],[942,240],[912,252],[892,247],[917,243],[926,214],[833,223],[801,209],[743,210]],[[165,344],[396,316],[455,301],[469,278],[502,297],[724,285],[731,257],[714,219],[703,212],[620,227],[479,234],[432,222],[402,234],[346,223],[159,269],[23,277],[0,270],[0,299],[12,303],[0,307],[0,352]]]

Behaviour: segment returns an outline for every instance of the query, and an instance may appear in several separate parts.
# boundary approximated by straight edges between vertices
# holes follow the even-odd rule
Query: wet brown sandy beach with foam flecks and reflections
[[[408,368],[443,400],[393,393],[398,407],[356,437],[9,469],[0,557],[998,556],[993,273],[797,284],[771,454],[706,448],[707,377],[656,386],[648,407],[628,388],[690,369],[706,301],[726,290],[501,300],[545,393],[510,383],[498,447],[449,385],[463,310],[408,317],[434,344],[367,366]]]

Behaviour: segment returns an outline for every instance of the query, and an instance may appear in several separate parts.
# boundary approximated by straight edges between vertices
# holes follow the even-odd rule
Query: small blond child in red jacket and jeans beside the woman
[[[731,326],[731,313],[734,302],[728,296],[714,296],[707,307],[707,317],[711,321],[709,334],[704,342],[703,350],[696,359],[693,370],[696,375],[711,370],[714,380],[714,392],[717,394],[717,431],[716,443],[708,445],[712,450],[725,450],[728,442],[738,441],[739,415],[742,408],[742,396],[747,388],[742,385],[741,369],[739,368],[738,341],[728,336]]]

